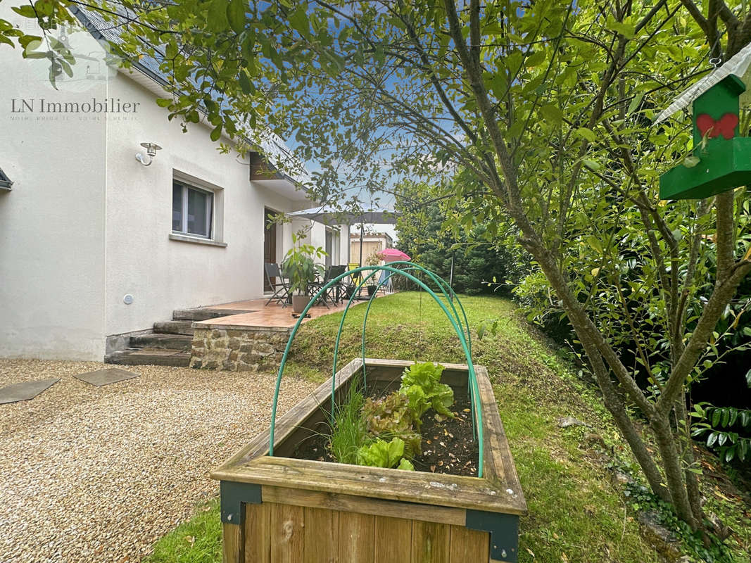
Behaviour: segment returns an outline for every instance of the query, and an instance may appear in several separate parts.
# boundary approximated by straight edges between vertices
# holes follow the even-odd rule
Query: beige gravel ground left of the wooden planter
[[[2,563],[140,561],[219,494],[208,471],[270,418],[272,375],[133,366],[140,378],[104,387],[73,377],[103,366],[0,360],[0,387],[61,380],[0,405]],[[283,382],[281,411],[314,388]]]

